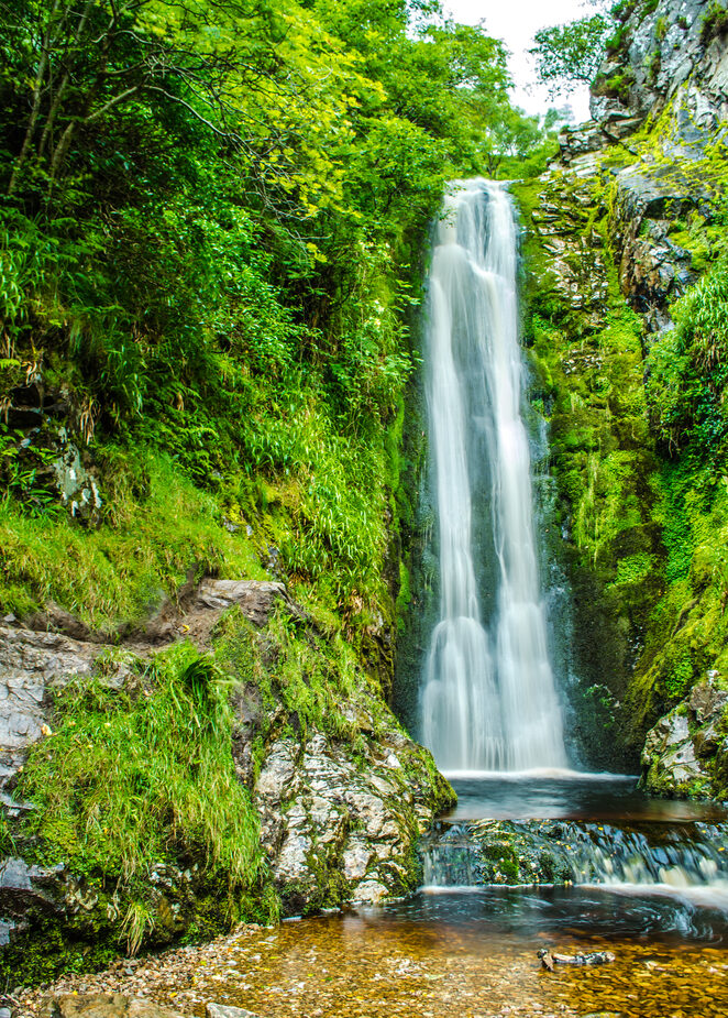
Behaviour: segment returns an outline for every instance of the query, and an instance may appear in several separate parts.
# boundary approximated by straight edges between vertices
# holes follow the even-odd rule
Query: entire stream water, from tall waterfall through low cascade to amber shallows
[[[411,898],[247,930],[200,999],[260,1016],[728,1016],[728,823],[570,769],[521,419],[507,191],[455,184],[429,281],[440,617],[420,737],[459,792]],[[540,967],[537,950],[611,964]],[[201,1014],[201,1005],[198,1006]]]

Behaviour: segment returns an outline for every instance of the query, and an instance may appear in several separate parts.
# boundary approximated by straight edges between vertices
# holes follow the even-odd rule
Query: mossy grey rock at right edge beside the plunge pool
[[[714,796],[728,770],[728,690],[708,676],[650,730],[643,784],[658,796]]]

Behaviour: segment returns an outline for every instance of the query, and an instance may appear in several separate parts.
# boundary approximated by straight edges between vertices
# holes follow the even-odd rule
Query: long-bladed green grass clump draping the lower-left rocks
[[[213,660],[178,645],[154,658],[134,692],[71,683],[56,731],[31,753],[22,793],[36,810],[26,833],[43,839],[47,861],[115,885],[129,900],[131,951],[157,921],[155,866],[199,861],[223,878],[231,915],[265,884],[257,814],[233,767],[228,697]]]

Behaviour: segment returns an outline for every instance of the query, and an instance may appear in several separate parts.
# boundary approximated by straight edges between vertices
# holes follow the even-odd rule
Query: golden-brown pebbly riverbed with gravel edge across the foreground
[[[540,968],[536,951],[608,948],[599,967]],[[36,1015],[48,993],[144,994],[183,1014],[206,1001],[261,1018],[585,1016],[725,1018],[728,950],[680,938],[570,937],[565,929],[497,932],[487,923],[413,921],[377,911],[246,927],[201,948],[22,994]]]

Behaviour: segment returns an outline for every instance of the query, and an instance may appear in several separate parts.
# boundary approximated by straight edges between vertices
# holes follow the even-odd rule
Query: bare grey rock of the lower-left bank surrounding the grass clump
[[[255,628],[235,624],[247,625],[245,633],[261,660],[271,665],[278,652],[266,623],[277,604],[301,638],[326,644],[282,583],[212,578],[190,581],[145,626],[129,631],[121,646],[108,646],[103,634],[90,632],[53,604],[29,621],[85,639],[19,625],[0,630],[3,801],[21,834],[12,856],[0,862],[0,939],[9,951],[22,953],[22,944],[40,929],[53,930],[54,937],[60,931],[62,938],[78,943],[117,943],[125,915],[115,879],[107,882],[96,869],[75,873],[70,863],[48,867],[30,861],[44,857],[35,839],[23,833],[23,814],[33,804],[13,798],[12,791],[29,748],[53,738],[56,721],[63,724],[54,718],[56,691],[75,677],[95,676],[112,699],[114,690],[137,697],[141,661],[178,638],[213,652],[212,631],[230,609],[253,623]],[[232,763],[260,813],[261,845],[285,912],[372,904],[411,889],[419,878],[418,839],[453,803],[454,795],[430,755],[402,734],[374,690],[364,689],[355,702],[342,697],[334,708],[341,713],[339,724],[327,727],[322,720],[320,729],[301,722],[272,691],[262,692],[250,668],[236,674],[231,702]],[[344,731],[353,741],[337,734]],[[150,944],[173,942],[200,909],[208,919],[221,911],[219,888],[206,883],[205,874],[203,860],[198,865],[188,856],[179,865],[173,857],[154,866],[145,890],[145,907],[154,917]]]

